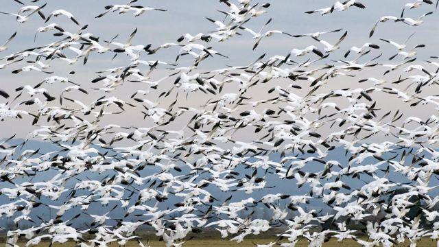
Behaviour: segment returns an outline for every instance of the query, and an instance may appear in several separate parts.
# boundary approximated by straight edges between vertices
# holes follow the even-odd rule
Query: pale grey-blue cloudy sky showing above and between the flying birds
[[[420,64],[425,64],[429,69],[434,70],[431,65],[427,65],[425,60],[429,60],[430,56],[439,56],[439,39],[437,38],[437,30],[439,27],[439,14],[435,12],[425,18],[425,23],[420,25],[419,27],[408,27],[403,23],[379,23],[377,27],[377,31],[375,35],[368,39],[368,34],[372,25],[381,17],[385,15],[399,16],[402,11],[402,7],[404,3],[408,1],[399,1],[399,0],[364,0],[364,4],[366,5],[367,12],[365,10],[360,10],[358,8],[352,8],[346,12],[335,12],[331,15],[320,16],[320,14],[305,14],[305,11],[316,10],[319,8],[324,8],[330,6],[333,1],[331,0],[276,0],[276,1],[268,1],[271,3],[270,8],[268,8],[268,13],[264,14],[260,18],[252,19],[246,24],[246,27],[251,28],[252,30],[259,30],[259,28],[266,22],[268,19],[272,18],[272,21],[265,30],[282,30],[289,34],[305,34],[309,32],[322,32],[322,31],[330,31],[342,28],[342,32],[337,32],[334,34],[327,34],[322,36],[322,39],[328,40],[330,43],[334,43],[335,40],[338,40],[343,32],[348,31],[348,36],[342,43],[342,49],[339,51],[335,51],[329,59],[340,58],[342,54],[346,52],[346,50],[353,46],[361,46],[364,40],[368,40],[370,43],[376,43],[381,46],[379,51],[372,51],[370,58],[378,56],[379,54],[383,54],[377,62],[380,63],[390,63],[388,58],[394,55],[395,49],[391,45],[387,43],[383,43],[383,41],[379,40],[379,38],[384,39],[392,39],[398,43],[403,43],[403,40],[410,36],[410,34],[415,33],[413,38],[408,43],[409,47],[413,47],[415,45],[419,45],[422,43],[426,47],[418,50],[418,60]],[[39,5],[42,5],[43,1],[38,1]],[[99,36],[100,40],[110,40],[110,38],[115,35],[119,35],[115,40],[119,42],[123,42],[130,35],[130,33],[134,30],[134,28],[138,28],[137,35],[132,40],[133,44],[152,44],[152,47],[157,47],[163,43],[175,43],[177,38],[182,34],[198,34],[199,32],[208,33],[215,30],[215,25],[209,22],[205,17],[209,17],[215,20],[222,20],[224,15],[217,10],[226,10],[226,6],[223,3],[219,3],[219,1],[206,1],[206,0],[191,0],[191,1],[182,1],[182,0],[167,0],[167,1],[144,1],[139,0],[139,5],[147,5],[152,8],[163,8],[166,9],[167,12],[147,12],[139,17],[134,17],[132,14],[116,14],[109,13],[106,14],[102,19],[95,19],[94,16],[104,12],[104,5],[108,5],[110,3],[125,3],[124,1],[104,1],[104,0],[57,0],[57,1],[48,1],[47,6],[43,9],[46,15],[49,14],[52,10],[57,10],[58,8],[64,8],[69,10],[75,16],[82,25],[88,25],[88,28],[85,32],[90,32],[91,34],[95,34]],[[401,6],[401,8],[399,8]],[[21,6],[12,0],[3,0],[1,3],[1,11],[4,12],[16,12]],[[423,5],[422,7],[416,10],[407,10],[405,12],[405,16],[411,16],[414,19],[421,14],[433,9],[431,6]],[[65,30],[69,32],[77,32],[78,26],[72,23],[70,20],[64,17],[52,17],[51,22],[56,22]],[[0,33],[0,41],[6,40],[11,34],[17,32],[16,38],[9,45],[9,49],[0,53],[0,58],[10,54],[11,52],[22,51],[23,49],[27,49],[29,47],[38,47],[40,45],[45,45],[47,43],[59,41],[59,37],[52,36],[51,33],[43,33],[38,34],[36,36],[36,40],[34,41],[35,30],[38,27],[43,27],[45,25],[44,21],[40,19],[38,15],[32,16],[31,20],[27,23],[16,23],[13,16],[9,15],[0,15],[0,28],[2,32]],[[245,32],[244,30],[240,31],[241,36],[235,36],[231,38],[226,43],[211,43],[210,45],[213,49],[217,50],[221,54],[228,56],[228,58],[222,58],[219,56],[215,56],[215,59],[206,60],[200,66],[200,71],[207,71],[211,69],[220,69],[224,68],[226,65],[230,66],[239,66],[244,64],[249,64],[254,61],[256,58],[261,56],[262,54],[266,54],[266,58],[274,55],[282,55],[285,56],[289,54],[294,48],[303,49],[308,45],[316,45],[322,49],[322,46],[318,44],[315,40],[304,37],[304,38],[292,38],[285,35],[274,35],[269,38],[264,38],[254,51],[252,51],[252,47],[254,45],[254,40],[251,38],[250,34]],[[153,56],[142,56],[142,59],[145,60],[164,60],[166,62],[175,62],[175,54],[178,50],[168,49],[163,50],[159,54]],[[69,71],[76,71],[74,75],[69,75],[69,79],[75,83],[81,85],[90,85],[90,81],[93,78],[97,78],[102,73],[97,73],[97,71],[102,71],[103,69],[108,69],[112,67],[119,67],[126,65],[129,60],[126,56],[117,56],[114,60],[111,60],[112,54],[92,54],[88,60],[87,66],[82,66],[82,61],[78,62],[75,65],[67,65],[61,61],[56,61],[51,64],[51,68],[49,71],[55,71],[53,75],[66,76]],[[307,57],[308,58],[308,57]],[[297,60],[297,62],[305,62],[307,58],[293,58]],[[315,56],[311,56],[311,58],[315,58]],[[352,58],[352,57],[351,57]],[[369,58],[368,58],[369,59]],[[30,59],[25,59],[30,60]],[[366,61],[366,59],[362,60]],[[0,60],[0,64],[6,62],[5,60]],[[184,67],[190,64],[191,60],[189,58],[182,58],[179,61],[178,67]],[[325,61],[327,62],[327,61]],[[318,65],[323,65],[325,62],[320,62]],[[401,60],[395,60],[393,62],[401,62]],[[392,62],[392,63],[393,63]],[[316,66],[318,66],[316,65]],[[0,69],[0,89],[4,89],[8,92],[14,92],[19,86],[23,86],[25,84],[35,85],[41,80],[43,80],[47,75],[43,73],[37,72],[28,72],[28,73],[20,73],[19,76],[13,75],[11,73],[12,69],[19,68],[19,64],[14,64],[8,69]],[[434,69],[433,69],[434,68]],[[377,77],[381,78],[383,69],[377,69],[372,67],[370,69],[364,69],[357,74],[357,77],[350,78],[346,77],[337,77],[335,79],[328,80],[327,84],[322,86],[320,91],[316,93],[321,93],[323,91],[331,91],[333,89],[346,89],[346,88],[356,88],[360,86],[357,83],[357,80],[360,78],[368,78],[368,77]],[[158,80],[165,75],[169,75],[173,73],[166,67],[161,67],[157,71],[154,72],[153,78],[154,80]],[[413,73],[402,73],[403,76],[416,74],[418,72]],[[397,80],[401,73],[392,73],[388,78],[390,80]],[[167,81],[167,84],[173,84],[175,77]],[[273,86],[281,85],[287,86],[288,84],[293,83],[292,81],[281,78],[270,81],[270,83],[266,85],[261,85],[251,89],[248,92],[248,95],[252,97],[252,99],[263,99],[268,97],[268,90]],[[304,82],[294,82],[294,83],[304,83]],[[305,83],[304,83],[305,85]],[[60,91],[66,85],[54,84],[50,85],[51,92],[52,91]],[[373,86],[370,82],[364,82],[361,84],[362,87],[368,88]],[[49,85],[45,85],[45,87],[49,87]],[[90,86],[89,86],[90,87]],[[93,88],[93,86],[91,86]],[[97,87],[97,86],[96,86]],[[403,85],[395,85],[395,87],[399,87],[403,89]],[[101,91],[93,91],[93,89],[88,89],[91,92],[91,95],[80,95],[71,93],[68,96],[73,97],[75,99],[80,99],[84,102],[90,103],[93,99],[96,99],[103,95],[115,95],[117,97],[129,98],[129,95],[133,93],[136,89],[141,88],[141,86],[136,85],[134,83],[126,82],[120,89],[117,89],[117,92],[112,93],[102,93]],[[169,85],[160,86],[159,91],[169,89]],[[294,92],[298,95],[305,95],[307,93],[308,88],[304,86],[303,90]],[[236,88],[228,87],[225,89],[225,92],[233,92],[236,91]],[[437,87],[431,87],[425,89],[424,95],[437,95],[439,94],[439,90]],[[14,94],[12,93],[12,98]],[[422,94],[421,94],[422,95]],[[57,95],[58,96],[58,95]],[[193,95],[179,95],[179,104],[180,106],[200,106],[206,103],[209,100],[209,97],[204,95],[204,97],[200,97],[199,95],[195,95],[195,97],[191,97]],[[156,95],[151,95],[151,97],[158,97],[158,93]],[[381,102],[380,113],[386,113],[388,110],[404,110],[405,115],[416,115],[417,117],[426,118],[430,115],[437,115],[437,110],[434,109],[434,106],[423,106],[419,105],[418,107],[410,107],[410,103],[401,104],[400,99],[396,99],[396,97],[389,97],[388,94],[385,93],[377,93],[374,98],[377,101]],[[19,102],[27,99],[23,95],[16,99],[14,104],[19,104]],[[169,105],[170,102],[174,101],[175,97],[169,98],[161,98],[156,99],[159,105]],[[1,99],[3,100],[3,99]],[[12,99],[8,99],[10,101]],[[336,99],[334,99],[336,100]],[[1,101],[3,103],[5,101]],[[12,105],[14,105],[12,104]],[[58,104],[57,102],[54,105]],[[67,108],[75,108],[74,104],[69,104],[68,102],[64,103]],[[346,104],[346,103],[345,103]],[[242,106],[242,110],[250,108],[250,106]],[[276,106],[277,107],[277,106]],[[29,107],[31,108],[31,107]],[[115,110],[115,109],[114,109]],[[138,127],[147,127],[152,126],[151,123],[143,121],[143,115],[139,115],[138,110],[126,109],[126,114],[123,117],[119,115],[115,115],[114,117],[108,117],[106,120],[108,123],[119,124],[121,126],[138,126]],[[275,109],[278,110],[278,109]],[[330,110],[324,110],[322,114],[330,113]],[[91,116],[93,117],[93,116]],[[31,126],[30,123],[32,117],[24,117],[22,119],[7,119],[0,123],[0,138],[10,137],[12,134],[17,134],[16,137],[26,137],[27,133],[38,128],[38,126]],[[45,121],[40,120],[38,125],[44,125]],[[178,129],[182,128],[180,123],[172,123],[169,128]],[[329,128],[329,126],[324,126],[324,131],[328,133],[331,131],[336,131],[337,129]],[[257,139],[257,134],[248,134],[245,130],[239,130],[236,133],[236,136],[239,137],[241,141],[251,141]],[[383,137],[379,136],[377,138],[379,141],[385,141],[386,139],[392,137]],[[35,148],[38,148],[40,143],[37,143]],[[340,152],[335,152],[335,154],[339,155]],[[341,155],[340,155],[341,156]],[[340,158],[340,156],[333,157],[334,159]],[[330,157],[332,158],[332,157]],[[341,159],[341,158],[340,158]],[[270,175],[269,175],[270,176]],[[44,179],[44,178],[40,178]],[[284,185],[285,186],[282,186]],[[288,191],[291,189],[287,187],[287,182],[281,181],[278,187],[282,187],[283,189],[287,188]],[[308,191],[309,188],[302,188],[303,191]],[[273,191],[279,191],[278,189],[273,189]],[[297,192],[297,191],[296,191]],[[301,192],[301,191],[299,191]],[[305,192],[304,192],[305,193]],[[245,195],[244,195],[245,196]],[[243,197],[244,197],[243,196]],[[226,196],[224,196],[226,198]],[[222,198],[220,198],[222,199]]]

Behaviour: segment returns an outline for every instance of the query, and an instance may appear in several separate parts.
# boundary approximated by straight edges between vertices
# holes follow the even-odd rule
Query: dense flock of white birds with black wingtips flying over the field
[[[423,25],[438,3],[407,3],[400,15],[371,23],[367,43],[346,47],[349,33],[340,27],[309,34],[266,31],[270,18],[259,30],[251,29],[250,23],[270,10],[270,3],[252,0],[220,0],[221,17],[204,20],[212,25],[209,32],[178,34],[162,45],[135,44],[137,28],[120,41],[87,32],[88,25],[74,13],[49,10],[50,3],[14,2],[18,10],[0,12],[1,18],[43,25],[31,42],[43,33],[53,35],[54,42],[5,54],[16,43],[17,31],[0,46],[0,69],[23,82],[15,91],[0,89],[0,119],[33,126],[24,139],[11,133],[0,143],[0,221],[16,224],[7,231],[6,246],[47,241],[82,247],[138,242],[143,247],[147,243],[139,234],[146,227],[166,246],[182,246],[208,228],[236,242],[281,229],[275,242],[258,246],[300,241],[322,246],[331,238],[362,246],[439,240],[434,186],[439,117],[433,112],[421,119],[407,111],[439,109],[439,96],[431,93],[439,82],[439,57],[417,60],[416,51],[426,45],[415,42],[416,34],[405,40],[375,34],[384,23]],[[414,8],[424,8],[425,14],[409,17]],[[172,10],[132,0],[105,6],[95,18],[166,11]],[[306,14],[317,18],[344,11],[368,11],[368,6],[337,1]],[[284,56],[260,51],[273,35],[292,39]],[[231,54],[213,46],[238,36],[254,40],[248,49],[255,59],[204,67],[206,61],[227,60]],[[291,47],[306,38],[307,47]],[[176,59],[148,59],[165,50]],[[334,56],[337,50],[341,58]],[[392,56],[384,58],[383,50]],[[125,65],[81,82],[73,79],[74,70],[67,75],[51,71],[54,64],[86,67],[103,54],[119,56]],[[101,65],[107,64],[110,60]],[[380,69],[379,78],[359,75]],[[45,79],[21,79],[27,73]],[[356,83],[327,90],[344,80]],[[121,89],[129,93],[119,96]],[[384,110],[379,95],[398,100],[401,110]],[[132,115],[143,121],[112,124]],[[26,148],[34,140],[54,150]],[[331,159],[335,152],[342,157]],[[289,192],[271,193],[281,189],[276,181],[288,183]],[[313,209],[316,201],[325,209]],[[257,217],[259,207],[269,211],[269,219]],[[54,215],[47,213],[52,210]],[[351,227],[355,224],[364,227],[357,230]]]

